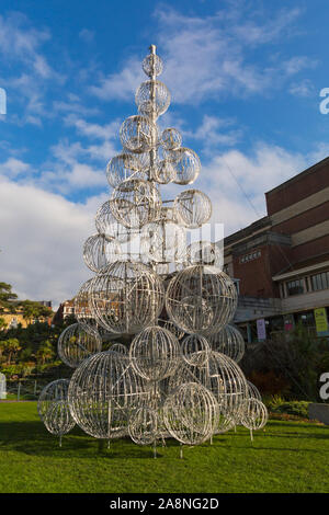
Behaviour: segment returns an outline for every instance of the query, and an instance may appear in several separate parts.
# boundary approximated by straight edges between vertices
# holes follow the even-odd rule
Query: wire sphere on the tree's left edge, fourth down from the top
[[[117,187],[127,179],[145,179],[143,164],[133,153],[120,153],[111,159],[106,167],[106,178],[110,186]]]

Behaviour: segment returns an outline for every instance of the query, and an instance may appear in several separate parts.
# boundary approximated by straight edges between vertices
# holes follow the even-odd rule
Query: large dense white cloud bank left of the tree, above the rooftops
[[[92,275],[82,245],[95,232],[93,207],[0,178],[2,278],[20,298],[58,305]]]

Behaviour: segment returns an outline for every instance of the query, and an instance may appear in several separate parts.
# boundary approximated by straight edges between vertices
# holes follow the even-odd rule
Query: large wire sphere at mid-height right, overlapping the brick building
[[[170,319],[188,333],[219,331],[232,319],[237,302],[237,289],[228,275],[203,265],[175,274],[166,293]]]

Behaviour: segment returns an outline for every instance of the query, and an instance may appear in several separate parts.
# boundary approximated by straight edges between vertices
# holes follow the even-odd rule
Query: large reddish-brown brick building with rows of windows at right
[[[329,335],[329,158],[265,193],[268,215],[224,240],[246,340],[296,323]],[[316,319],[318,322],[316,322]]]

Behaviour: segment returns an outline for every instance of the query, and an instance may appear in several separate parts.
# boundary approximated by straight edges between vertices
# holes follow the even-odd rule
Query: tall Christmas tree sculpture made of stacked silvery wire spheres
[[[218,267],[218,248],[188,244],[186,232],[209,220],[211,199],[193,188],[161,198],[166,184],[192,184],[201,163],[177,129],[159,129],[170,93],[157,79],[154,45],[143,69],[138,114],[122,124],[123,151],[106,168],[113,191],[83,248],[94,275],[75,298],[78,323],[58,341],[76,370],[43,390],[38,412],[60,438],[77,423],[109,445],[129,435],[156,456],[167,437],[197,445],[237,424],[252,432],[266,410],[237,365],[245,350],[230,324],[237,290]],[[111,346],[102,352],[104,340]]]

